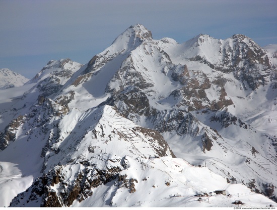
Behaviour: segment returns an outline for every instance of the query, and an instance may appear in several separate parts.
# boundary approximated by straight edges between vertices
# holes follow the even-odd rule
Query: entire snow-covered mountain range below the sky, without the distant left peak
[[[49,61],[1,96],[0,205],[276,205],[276,61],[140,24],[85,65]]]

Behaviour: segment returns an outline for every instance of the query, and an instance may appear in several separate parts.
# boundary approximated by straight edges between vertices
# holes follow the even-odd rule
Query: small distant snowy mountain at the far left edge
[[[25,84],[29,79],[19,73],[13,72],[8,68],[0,69],[0,89],[19,87]]]

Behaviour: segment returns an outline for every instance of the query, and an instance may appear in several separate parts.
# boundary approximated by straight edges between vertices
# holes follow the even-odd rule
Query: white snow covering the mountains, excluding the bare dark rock
[[[193,60],[198,56],[212,64],[222,63],[225,57],[222,50],[234,47],[233,38],[219,40],[198,35],[178,44],[170,38],[153,40],[149,35],[150,31],[142,25],[128,28],[110,47],[97,55],[95,68],[87,74],[83,73],[89,64],[82,65],[70,59],[52,60],[27,84],[0,90],[0,131],[20,115],[35,116],[30,119],[25,116],[26,122],[12,131],[16,140],[9,142],[9,146],[0,152],[0,206],[8,206],[14,196],[25,191],[35,178],[42,175],[40,170],[44,160],[45,172],[62,166],[65,181],[69,183],[85,170],[85,166],[80,164],[82,160],[88,160],[103,170],[118,167],[119,175],[137,181],[132,193],[130,189],[121,187],[116,179],[100,185],[92,189],[92,196],[82,202],[76,200],[74,207],[236,207],[232,204],[235,200],[241,200],[245,207],[276,205],[242,184],[255,179],[255,185],[271,182],[277,186],[274,179],[277,163],[273,158],[275,150],[271,141],[277,135],[277,92],[272,88],[275,80],[268,79],[267,84],[252,91],[232,72],[223,73]],[[242,42],[251,49],[254,46],[248,38]],[[273,54],[276,46],[265,49],[271,56],[270,62],[275,65]],[[186,85],[186,81],[181,84],[172,77],[174,73],[182,76],[184,65],[187,65],[189,74],[186,79],[195,79],[199,85],[205,83],[205,77],[211,82],[225,78],[225,98],[232,99],[234,104],[217,112],[190,112],[195,121],[187,125],[191,123],[195,133],[162,133],[177,158],[170,156],[169,149],[167,156],[157,158],[159,155],[154,148],[159,151],[160,145],[153,143],[153,137],[140,130],[143,127],[153,129],[153,119],[139,116],[132,122],[110,106],[97,106],[112,95],[112,92],[107,92],[108,87],[120,93],[142,85],[140,91],[146,94],[150,106],[157,112],[163,111],[165,118],[175,114],[172,110],[188,112],[186,106],[178,105],[183,98],[176,99],[171,94]],[[79,76],[84,76],[82,82],[73,85]],[[47,104],[38,104],[38,96],[42,93],[40,85],[48,78],[57,82],[60,89],[46,96],[49,97]],[[142,83],[152,85],[144,87]],[[222,89],[223,86],[216,84],[204,89],[207,100],[202,105],[219,101]],[[53,110],[63,109],[56,102],[57,98],[68,96],[71,91],[74,96],[68,103],[70,111],[54,116]],[[190,102],[193,103],[192,98]],[[233,121],[222,125],[225,119],[212,120],[221,116],[233,118]],[[176,124],[175,121],[171,125],[178,126]],[[210,151],[203,151],[204,135],[212,141]],[[46,142],[50,146],[41,157]],[[88,148],[95,148],[95,151]],[[123,159],[128,162],[126,168],[120,164]],[[231,176],[233,180],[230,180]],[[62,184],[58,183],[51,189],[58,194],[61,187]],[[230,196],[210,193],[218,189],[225,189]],[[201,201],[198,201],[199,196],[194,196],[203,193],[209,196],[201,197]]]

